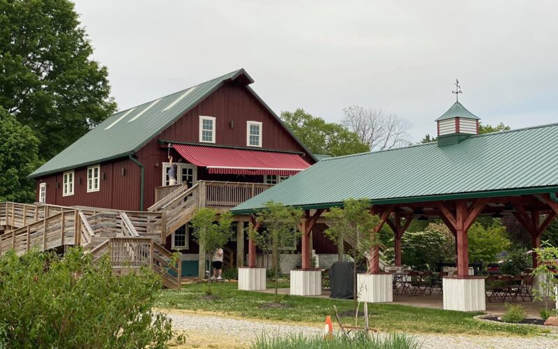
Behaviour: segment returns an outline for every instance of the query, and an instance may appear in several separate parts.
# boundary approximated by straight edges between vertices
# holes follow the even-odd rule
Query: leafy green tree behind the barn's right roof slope
[[[342,156],[370,150],[344,126],[314,117],[301,108],[294,112],[282,112],[281,119],[314,154]]]

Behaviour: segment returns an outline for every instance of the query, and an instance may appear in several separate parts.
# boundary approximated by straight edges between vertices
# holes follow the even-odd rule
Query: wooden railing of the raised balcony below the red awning
[[[202,206],[234,207],[271,188],[273,184],[198,181]]]

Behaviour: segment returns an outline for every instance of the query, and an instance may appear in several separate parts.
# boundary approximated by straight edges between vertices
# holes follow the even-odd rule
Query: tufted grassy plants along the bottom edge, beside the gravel
[[[389,334],[388,336],[372,334],[367,336],[363,332],[357,332],[351,338],[342,334],[336,334],[331,339],[324,339],[324,336],[306,336],[304,334],[290,334],[288,336],[267,336],[262,334],[252,343],[250,348],[268,349],[414,349],[420,348],[412,337],[405,334]]]

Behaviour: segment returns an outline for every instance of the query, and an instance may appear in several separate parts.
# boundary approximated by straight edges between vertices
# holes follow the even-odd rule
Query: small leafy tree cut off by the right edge
[[[546,320],[552,315],[548,302],[556,302],[556,288],[558,287],[558,279],[555,276],[558,274],[558,247],[554,247],[548,242],[543,242],[541,248],[535,248],[536,260],[538,267],[533,269],[531,276],[538,277],[541,284],[541,290],[533,290],[534,299],[543,302],[545,308],[541,310],[541,318]],[[554,313],[556,314],[556,311]]]

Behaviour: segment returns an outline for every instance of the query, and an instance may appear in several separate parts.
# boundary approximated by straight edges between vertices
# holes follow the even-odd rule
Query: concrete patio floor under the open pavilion
[[[274,293],[275,289],[271,288],[268,290],[259,290],[252,292],[262,292],[262,293]],[[290,295],[289,288],[279,288],[278,293],[280,295]],[[329,298],[331,295],[330,290],[322,290],[322,295],[318,296],[302,296],[302,297],[312,297],[312,298]],[[347,301],[352,302],[352,299],[347,299]],[[421,308],[431,308],[431,309],[444,309],[443,295],[393,295],[393,302],[390,304],[401,304],[406,306],[418,306]],[[543,303],[541,302],[515,302],[514,304],[521,304],[525,307],[527,316],[538,317],[538,311],[542,309]],[[485,313],[492,314],[503,314],[506,311],[504,308],[504,303],[502,302],[486,302]]]

